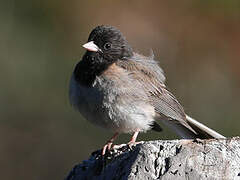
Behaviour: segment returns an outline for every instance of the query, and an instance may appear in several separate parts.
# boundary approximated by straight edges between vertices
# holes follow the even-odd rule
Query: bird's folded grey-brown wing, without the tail
[[[126,69],[129,76],[141,84],[149,103],[161,117],[175,121],[195,132],[187,124],[186,115],[180,103],[166,89],[163,70],[156,61],[135,53],[130,60],[119,60],[116,64]]]

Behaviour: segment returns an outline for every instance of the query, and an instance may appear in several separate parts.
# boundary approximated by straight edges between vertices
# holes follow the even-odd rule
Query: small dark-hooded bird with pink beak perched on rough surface
[[[83,48],[86,52],[70,78],[69,99],[85,119],[113,132],[102,155],[119,134],[133,134],[128,143],[133,145],[140,132],[162,131],[160,123],[183,139],[225,138],[186,115],[167,89],[153,53],[134,52],[116,27],[95,27]]]

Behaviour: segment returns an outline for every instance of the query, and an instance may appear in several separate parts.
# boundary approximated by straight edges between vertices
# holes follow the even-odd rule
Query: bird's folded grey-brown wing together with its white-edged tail
[[[166,89],[163,70],[153,57],[135,53],[130,60],[118,61],[117,65],[125,69],[132,80],[140,84],[146,100],[154,107],[160,119],[164,119],[165,123],[175,129],[180,136],[202,139],[224,138],[216,131],[186,116],[181,104]]]

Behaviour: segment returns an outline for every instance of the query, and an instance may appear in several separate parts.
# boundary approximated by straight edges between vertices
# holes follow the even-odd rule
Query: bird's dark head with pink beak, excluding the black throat
[[[95,56],[95,63],[111,64],[133,55],[123,34],[117,28],[106,25],[93,29],[83,47],[87,49],[87,55]]]

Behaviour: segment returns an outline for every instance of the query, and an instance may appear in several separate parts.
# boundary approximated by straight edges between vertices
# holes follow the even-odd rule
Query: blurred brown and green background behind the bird
[[[81,45],[101,24],[118,27],[136,52],[153,49],[189,115],[225,136],[239,135],[239,22],[238,0],[1,2],[1,179],[64,179],[112,136],[68,101]],[[174,138],[164,130],[139,140]]]

